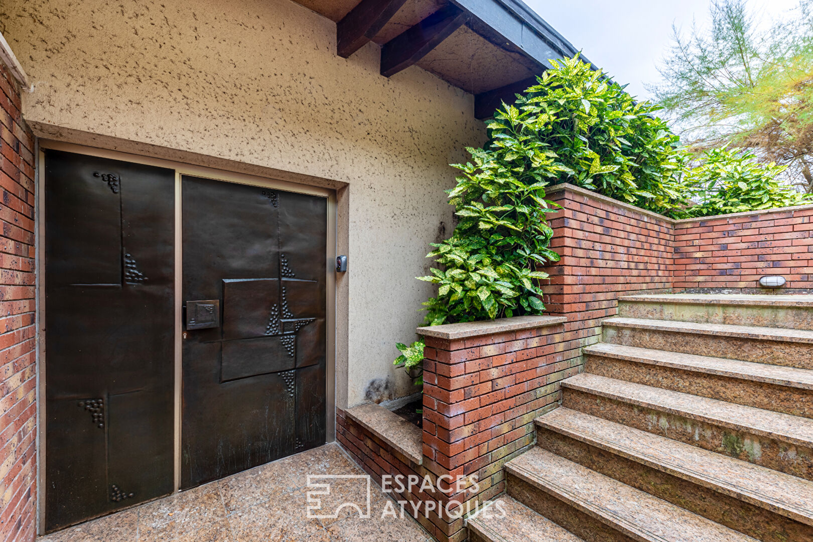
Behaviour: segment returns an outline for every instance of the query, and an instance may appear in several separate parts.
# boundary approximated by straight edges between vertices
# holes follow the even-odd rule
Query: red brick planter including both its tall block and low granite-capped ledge
[[[427,477],[433,490],[392,496],[420,503],[413,515],[437,540],[465,540],[465,515],[504,491],[502,466],[533,446],[533,419],[559,401],[559,380],[578,371],[561,361],[564,320],[419,327],[426,339],[424,430],[362,405],[339,411],[337,439],[378,483],[385,475]],[[434,509],[426,509],[429,502]]]

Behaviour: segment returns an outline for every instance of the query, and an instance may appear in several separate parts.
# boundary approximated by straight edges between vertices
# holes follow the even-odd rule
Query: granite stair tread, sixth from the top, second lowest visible
[[[506,470],[636,540],[755,542],[734,531],[539,447]]]

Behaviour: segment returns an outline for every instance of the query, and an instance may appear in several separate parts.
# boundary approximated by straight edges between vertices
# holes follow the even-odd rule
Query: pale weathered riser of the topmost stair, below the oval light
[[[620,301],[618,311],[624,318],[813,330],[813,310],[802,307]]]

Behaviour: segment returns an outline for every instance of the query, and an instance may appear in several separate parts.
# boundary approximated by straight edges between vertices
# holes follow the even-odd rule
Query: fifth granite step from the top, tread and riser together
[[[810,480],[577,410],[535,421],[541,448],[695,514],[759,540],[813,537]]]

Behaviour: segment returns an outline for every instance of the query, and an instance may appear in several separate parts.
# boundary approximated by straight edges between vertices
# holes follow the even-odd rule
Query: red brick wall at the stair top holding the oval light
[[[759,291],[764,275],[813,290],[813,206],[680,220],[675,224],[674,288]]]

